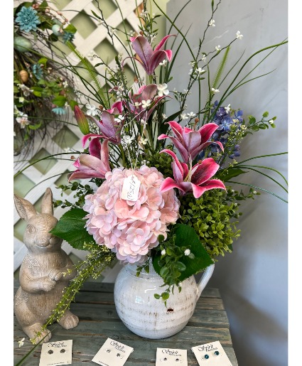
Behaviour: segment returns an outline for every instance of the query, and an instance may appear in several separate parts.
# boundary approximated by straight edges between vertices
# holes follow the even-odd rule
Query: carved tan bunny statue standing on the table
[[[60,301],[62,291],[68,286],[77,271],[68,255],[61,249],[63,239],[50,234],[58,220],[53,216],[53,193],[46,188],[42,200],[41,214],[33,205],[14,195],[18,215],[27,222],[23,242],[28,252],[21,264],[20,287],[14,298],[14,313],[21,328],[33,342],[51,338],[50,330],[41,332],[53,309]],[[70,273],[63,273],[71,270]],[[65,329],[75,328],[79,318],[65,311],[58,323]],[[36,337],[36,332],[41,332]]]

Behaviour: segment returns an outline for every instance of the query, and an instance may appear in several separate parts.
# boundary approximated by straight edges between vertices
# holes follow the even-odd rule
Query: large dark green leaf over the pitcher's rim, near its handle
[[[203,244],[200,242],[198,235],[196,234],[193,227],[190,227],[185,224],[178,225],[176,229],[176,242],[175,244],[178,247],[184,247],[185,244],[190,246],[191,253],[194,254],[195,258],[190,259],[189,257],[183,256],[179,262],[185,264],[185,270],[181,272],[179,277],[180,281],[188,279],[188,277],[193,274],[198,274],[200,271],[203,271],[206,267],[213,264],[213,261],[207,251],[203,247]],[[160,275],[161,267],[158,265],[158,261],[161,259],[161,254],[159,253],[153,259],[153,267],[156,272]]]

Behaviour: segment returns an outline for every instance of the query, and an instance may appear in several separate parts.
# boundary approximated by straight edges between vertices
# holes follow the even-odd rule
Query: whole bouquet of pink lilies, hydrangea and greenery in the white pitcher
[[[205,35],[215,25],[219,4],[220,1],[212,1]],[[241,106],[232,108],[226,101],[230,102],[232,91],[250,81],[246,80],[250,72],[242,76],[249,60],[266,50],[276,50],[286,41],[247,58],[227,86],[221,82],[227,54],[231,43],[240,41],[242,34],[234,31],[232,42],[223,47],[217,45],[208,53],[203,52],[205,36],[195,53],[187,43],[192,55],[188,88],[171,92],[168,84],[179,51],[174,51],[173,45],[177,37],[180,45],[186,43],[185,36],[167,17],[178,32],[156,43],[158,16],[148,12],[146,1],[143,5],[140,31],[131,35],[125,31],[129,47],[125,47],[126,55],[117,55],[115,68],[102,59],[93,67],[72,43],[67,43],[92,76],[93,82],[85,83],[92,100],[85,107],[74,107],[83,151],[71,156],[75,170],[70,172],[68,183],[59,188],[74,191],[75,201],[55,201],[55,206],[68,211],[52,233],[90,253],[77,265],[78,276],[65,289],[48,324],[60,318],[84,281],[90,276],[97,278],[115,259],[136,265],[138,275],[153,265],[163,279],[163,292],[156,298],[166,302],[176,288],[181,291],[184,279],[232,252],[232,244],[240,235],[237,223],[242,215],[242,200],[254,200],[259,190],[275,195],[244,183],[245,190],[236,190],[232,183],[239,182],[234,178],[256,171],[281,185],[261,172],[259,166],[249,165],[247,160],[237,161],[244,137],[274,128],[276,117],[269,117],[269,112],[260,117],[244,117]],[[115,40],[114,29],[107,24],[102,9],[99,11],[93,15]],[[217,57],[221,61],[212,80],[210,65]],[[126,58],[136,70],[134,80],[126,79]],[[98,65],[105,65],[104,75],[97,72]],[[234,66],[229,72],[234,72]],[[239,75],[241,81],[237,81]],[[100,77],[108,85],[105,91],[100,87]],[[186,103],[193,85],[204,88],[208,97],[203,107],[188,112]],[[172,99],[178,107],[166,116],[166,104]],[[254,158],[261,156],[248,160]],[[261,168],[271,172],[269,167]],[[281,173],[275,173],[286,182]]]

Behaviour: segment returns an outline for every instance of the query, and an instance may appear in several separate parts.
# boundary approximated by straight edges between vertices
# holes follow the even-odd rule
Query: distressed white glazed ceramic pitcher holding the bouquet
[[[119,271],[114,284],[114,302],[119,318],[129,330],[144,338],[162,339],[182,330],[193,316],[196,302],[214,271],[215,264],[205,269],[196,284],[194,276],[185,279],[180,293],[176,289],[167,300],[156,300],[165,287],[153,266],[150,273],[136,276],[136,265],[126,264]]]

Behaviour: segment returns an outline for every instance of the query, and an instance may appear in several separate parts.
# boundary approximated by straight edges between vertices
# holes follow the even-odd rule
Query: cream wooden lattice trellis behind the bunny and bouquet
[[[136,6],[141,6],[142,0],[117,0],[119,7],[116,5],[115,0],[106,0],[106,1],[99,1],[99,5],[102,7],[102,3],[104,6],[109,6],[109,9],[115,9],[111,11],[111,14],[107,17],[107,23],[109,26],[112,26],[112,28],[118,28],[122,22],[123,18],[124,21],[129,25],[131,30],[134,32],[139,31],[139,19],[136,16]],[[21,1],[14,1],[14,6],[17,6],[20,4]],[[60,7],[60,4],[65,4],[65,6],[62,8]],[[92,11],[95,11],[96,14],[99,14],[99,10],[97,9],[97,6],[95,4],[95,1],[92,0],[71,0],[71,1],[57,1],[51,3],[52,7],[54,9],[58,9],[63,12],[63,14],[68,18],[68,20],[72,23],[72,20],[75,20],[75,17],[78,14],[82,14],[82,12],[85,12],[86,14],[92,14]],[[120,10],[122,10],[122,15]],[[80,31],[77,31],[74,40],[72,41],[75,44],[75,47],[77,50],[80,51],[82,55],[85,55],[87,58],[89,58],[93,63],[99,62],[98,60],[93,60],[91,57],[93,54],[97,54],[102,58],[105,58],[104,55],[98,54],[99,49],[102,49],[102,44],[108,45],[111,43],[111,40],[109,38],[109,35],[107,34],[107,29],[104,26],[101,26],[99,22],[90,16],[87,17],[81,17],[81,21],[87,21],[87,28],[94,28],[90,32],[88,36],[81,36]],[[89,26],[88,23],[90,22]],[[92,26],[92,23],[93,26]],[[85,29],[85,25],[82,26],[83,29]],[[122,38],[121,38],[122,40]],[[114,42],[114,49],[116,54],[123,53],[123,45],[119,42]],[[79,63],[79,60],[75,57],[75,55],[70,54],[68,55],[68,59],[72,65],[77,65]],[[114,67],[114,59],[109,63],[109,67]],[[129,68],[134,73],[134,68],[131,63],[131,61],[128,59],[124,63],[125,66]],[[139,66],[138,66],[139,67]],[[104,73],[104,66],[101,65],[97,69],[101,74]],[[139,67],[139,72],[141,75],[144,75],[144,70]],[[104,79],[99,80],[100,84],[104,85]],[[76,84],[78,86],[79,90],[82,90],[82,85],[80,81]],[[87,92],[87,91],[86,91]],[[58,136],[60,138],[58,139]],[[58,131],[58,129],[48,129],[48,139],[47,141],[38,141],[35,140],[33,144],[33,149],[31,150],[30,156],[27,156],[28,161],[31,159],[35,159],[37,156],[48,156],[52,154],[58,154],[63,151],[63,145],[64,141],[63,138],[66,136],[66,139],[68,139],[68,136],[71,136],[72,138],[69,138],[68,141],[72,141],[71,146],[66,146],[70,151],[72,150],[81,150],[82,144],[80,141],[81,135],[79,134],[79,130],[77,127],[72,126],[72,124],[66,124],[63,126],[62,133],[61,131]],[[71,154],[70,154],[71,155]],[[53,198],[55,200],[65,200],[68,199],[72,201],[72,193],[63,193],[61,195],[60,190],[58,190],[58,185],[62,184],[62,180],[60,181],[60,178],[65,177],[65,183],[67,183],[66,175],[64,174],[67,171],[73,171],[74,167],[72,166],[72,161],[70,160],[63,160],[63,159],[55,159],[52,161],[43,161],[43,168],[39,168],[36,164],[33,166],[26,168],[25,171],[22,173],[22,178],[25,179],[27,182],[29,182],[29,186],[31,186],[31,189],[28,190],[28,185],[21,184],[18,185],[18,195],[21,195],[21,197],[26,198],[26,200],[29,200],[33,205],[36,206],[36,209],[38,210],[38,203],[41,200],[43,194],[45,193],[45,189],[47,187],[50,187],[53,191]],[[19,166],[16,165],[16,170],[18,170]],[[16,172],[15,172],[16,173]],[[62,176],[61,176],[62,175]],[[60,181],[60,183],[58,183]],[[16,193],[16,189],[15,189]],[[57,218],[60,218],[63,213],[65,212],[65,209],[63,208],[55,208],[54,215]],[[25,227],[25,225],[22,226],[22,220],[18,216],[18,213],[16,212],[16,208],[14,208],[14,226],[15,228],[21,226],[21,229],[19,229],[20,232],[22,232],[22,227]],[[79,259],[85,258],[85,252],[81,250],[74,249],[70,247],[70,245],[67,242],[63,242],[63,249],[68,254],[73,254]],[[21,235],[14,235],[14,271],[20,267],[23,257],[26,254],[26,247],[22,242]],[[112,269],[108,269],[107,271],[103,272],[103,279],[105,281],[114,281],[115,276],[117,274],[117,271],[119,271],[119,264],[116,264]]]

